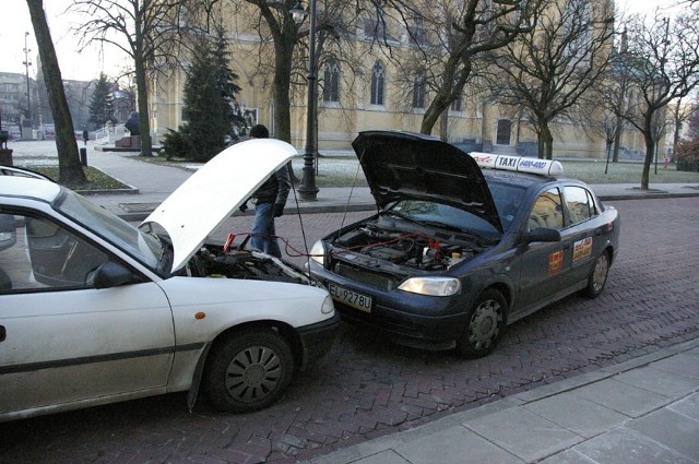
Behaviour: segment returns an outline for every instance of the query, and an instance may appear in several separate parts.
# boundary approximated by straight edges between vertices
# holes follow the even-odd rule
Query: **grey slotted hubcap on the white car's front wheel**
[[[266,346],[238,353],[226,369],[226,390],[241,402],[260,401],[276,388],[282,377],[279,356]]]

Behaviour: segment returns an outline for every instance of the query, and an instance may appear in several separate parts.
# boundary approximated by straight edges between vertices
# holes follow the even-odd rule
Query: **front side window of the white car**
[[[0,214],[0,293],[87,288],[107,254],[42,217]]]

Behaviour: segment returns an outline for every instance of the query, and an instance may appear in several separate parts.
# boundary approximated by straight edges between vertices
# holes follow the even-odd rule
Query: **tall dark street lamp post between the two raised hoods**
[[[316,94],[318,92],[318,70],[316,63],[316,0],[310,0],[309,12],[304,10],[300,0],[291,11],[296,23],[310,15],[310,29],[308,35],[308,107],[306,116],[306,152],[304,153],[304,168],[301,171],[301,185],[297,189],[298,197],[303,201],[316,201],[318,188],[316,187],[316,170],[313,163],[318,147],[313,127],[316,123]]]

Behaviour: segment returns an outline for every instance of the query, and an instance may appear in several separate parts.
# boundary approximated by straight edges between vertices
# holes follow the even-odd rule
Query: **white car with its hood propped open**
[[[0,421],[177,391],[191,408],[200,385],[227,412],[279,400],[330,349],[332,299],[206,238],[295,153],[226,148],[138,228],[49,180],[0,176]]]

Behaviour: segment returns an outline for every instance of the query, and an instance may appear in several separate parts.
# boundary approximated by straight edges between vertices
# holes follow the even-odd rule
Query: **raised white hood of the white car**
[[[242,204],[296,148],[274,139],[256,139],[233,145],[197,170],[143,224],[161,225],[173,240],[171,272],[201,248],[221,223]]]

